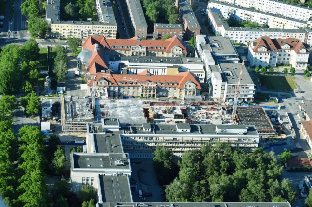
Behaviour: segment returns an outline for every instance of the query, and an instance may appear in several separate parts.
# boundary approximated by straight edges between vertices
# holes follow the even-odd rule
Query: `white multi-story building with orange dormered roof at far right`
[[[290,63],[296,69],[306,69],[309,52],[295,38],[271,39],[261,37],[249,43],[247,60],[252,66],[270,66]]]

